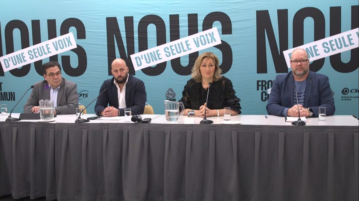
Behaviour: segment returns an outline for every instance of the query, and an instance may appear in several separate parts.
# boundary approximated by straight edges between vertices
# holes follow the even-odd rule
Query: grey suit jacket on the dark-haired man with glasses
[[[33,106],[39,106],[40,100],[50,100],[50,88],[47,81],[39,81],[34,84],[31,95],[24,105],[24,113],[31,113]],[[60,90],[57,93],[56,114],[76,114],[76,107],[79,105],[77,85],[62,78]]]

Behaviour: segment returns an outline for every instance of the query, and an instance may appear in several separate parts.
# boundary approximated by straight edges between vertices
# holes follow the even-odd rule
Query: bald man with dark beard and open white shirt
[[[146,90],[143,81],[129,75],[129,67],[123,59],[115,59],[111,64],[113,78],[105,80],[95,105],[99,116],[125,116],[124,110],[131,109],[132,115],[143,114]]]

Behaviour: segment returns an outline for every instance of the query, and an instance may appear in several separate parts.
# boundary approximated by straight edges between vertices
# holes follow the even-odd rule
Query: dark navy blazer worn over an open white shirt
[[[107,105],[113,106],[118,109],[117,87],[113,83],[114,78],[105,80],[100,88],[99,94],[107,88],[97,99],[95,105],[95,113],[104,110]],[[126,84],[125,94],[126,108],[130,108],[132,115],[143,114],[146,102],[146,89],[145,84],[140,79],[129,74],[129,80]],[[121,116],[125,115],[125,108],[120,108]]]

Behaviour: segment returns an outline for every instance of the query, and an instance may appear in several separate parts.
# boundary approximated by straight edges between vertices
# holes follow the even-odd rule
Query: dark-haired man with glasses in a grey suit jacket
[[[76,83],[62,78],[59,62],[44,63],[42,71],[45,80],[34,84],[31,95],[24,105],[24,112],[38,113],[40,100],[52,100],[55,114],[76,114],[79,104]]]

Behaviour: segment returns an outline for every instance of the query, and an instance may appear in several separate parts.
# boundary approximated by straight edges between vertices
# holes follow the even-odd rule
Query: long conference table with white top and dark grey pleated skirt
[[[12,114],[18,117],[19,114]],[[83,118],[94,116],[84,114]],[[266,118],[267,117],[267,118]],[[235,201],[359,198],[359,121],[308,118],[143,115],[75,124],[5,122],[0,116],[0,196],[47,200]],[[230,122],[231,123],[231,122]]]

